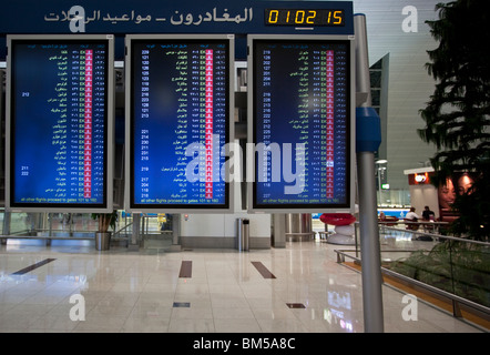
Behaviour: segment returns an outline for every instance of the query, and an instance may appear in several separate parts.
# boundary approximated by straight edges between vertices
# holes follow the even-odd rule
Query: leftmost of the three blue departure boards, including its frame
[[[10,207],[112,210],[112,41],[8,38]]]

